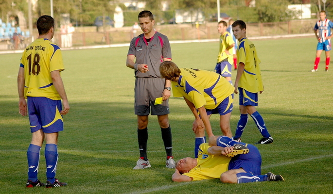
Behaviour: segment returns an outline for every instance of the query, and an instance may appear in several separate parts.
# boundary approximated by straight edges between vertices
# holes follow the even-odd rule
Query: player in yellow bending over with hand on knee
[[[234,88],[226,79],[212,71],[178,68],[171,61],[161,63],[159,71],[162,78],[171,81],[174,97],[184,97],[195,117],[192,128],[195,133],[195,158],[199,146],[206,142],[205,128],[207,135],[213,136],[209,121],[211,114],[220,115],[222,133],[232,137],[230,116]]]

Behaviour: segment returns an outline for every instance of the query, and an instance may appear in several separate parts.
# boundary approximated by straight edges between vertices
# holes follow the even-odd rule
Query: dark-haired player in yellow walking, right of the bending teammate
[[[247,114],[250,114],[256,123],[263,138],[256,144],[273,143],[273,138],[268,133],[263,117],[256,110],[258,106],[258,93],[263,93],[263,81],[260,71],[260,60],[254,44],[246,38],[246,24],[237,20],[232,24],[232,32],[239,41],[237,48],[237,75],[235,80],[235,94],[239,90],[239,110],[241,113],[238,121],[234,140],[240,141],[247,123]]]

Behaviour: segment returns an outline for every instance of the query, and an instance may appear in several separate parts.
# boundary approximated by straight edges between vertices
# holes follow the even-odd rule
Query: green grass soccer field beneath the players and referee
[[[333,66],[325,69],[322,53],[312,73],[315,37],[253,40],[261,59],[265,91],[259,95],[270,145],[257,145],[262,174],[280,174],[285,182],[223,184],[219,180],[172,182],[157,117],[148,125],[151,168],[133,170],[139,157],[134,115],[134,71],[125,65],[128,48],[65,50],[62,78],[70,102],[59,132],[57,176],[61,188],[25,188],[26,152],[31,133],[28,117],[18,113],[17,73],[21,54],[0,55],[0,194],[332,194]],[[213,70],[218,42],[172,44],[179,67]],[[232,71],[234,81],[236,71]],[[231,115],[234,134],[238,95]],[[193,157],[193,114],[182,98],[171,97],[170,125],[175,160]],[[219,117],[210,118],[215,135]],[[261,139],[252,118],[242,142]],[[38,178],[46,182],[44,148]]]

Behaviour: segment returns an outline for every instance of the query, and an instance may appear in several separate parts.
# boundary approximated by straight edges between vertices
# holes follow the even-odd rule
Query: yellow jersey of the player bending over
[[[172,81],[174,97],[185,97],[195,108],[216,108],[230,96],[234,87],[221,75],[207,70],[180,68],[178,81]]]

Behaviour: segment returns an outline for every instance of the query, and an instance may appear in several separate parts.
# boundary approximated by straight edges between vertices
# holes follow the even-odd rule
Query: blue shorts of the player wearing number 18
[[[31,132],[39,129],[43,129],[44,133],[64,130],[61,110],[61,100],[52,100],[47,97],[28,97]]]

